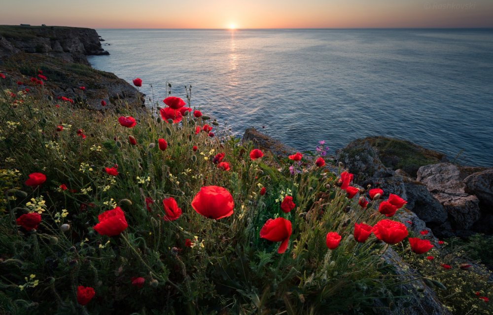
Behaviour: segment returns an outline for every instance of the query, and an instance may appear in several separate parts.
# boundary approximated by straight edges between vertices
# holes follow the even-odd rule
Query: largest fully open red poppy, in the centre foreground
[[[211,219],[221,219],[233,214],[233,196],[226,188],[203,186],[192,200],[192,208]]]

